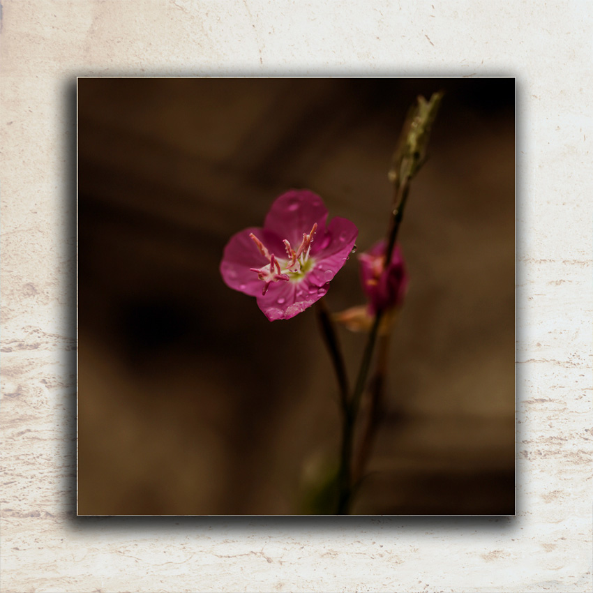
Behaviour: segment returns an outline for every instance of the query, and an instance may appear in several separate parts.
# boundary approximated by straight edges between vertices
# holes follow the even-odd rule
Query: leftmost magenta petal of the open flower
[[[220,262],[220,274],[228,287],[257,296],[262,294],[264,283],[258,280],[257,273],[250,271],[250,268],[261,268],[269,262],[249,236],[251,233],[267,246],[270,253],[285,253],[284,245],[276,233],[260,227],[250,227],[230,238]]]

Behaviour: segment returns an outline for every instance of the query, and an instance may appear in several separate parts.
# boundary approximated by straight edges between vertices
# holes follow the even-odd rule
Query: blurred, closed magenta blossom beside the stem
[[[379,241],[359,255],[362,288],[368,296],[370,313],[389,310],[403,303],[408,276],[400,247],[396,245],[391,262],[385,266],[386,241]]]

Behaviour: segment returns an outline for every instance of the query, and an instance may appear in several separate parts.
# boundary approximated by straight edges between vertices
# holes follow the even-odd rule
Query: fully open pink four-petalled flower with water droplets
[[[276,199],[263,228],[234,234],[225,247],[220,273],[227,286],[257,297],[270,321],[290,319],[321,299],[345,264],[358,229],[327,209],[309,190],[290,190]]]

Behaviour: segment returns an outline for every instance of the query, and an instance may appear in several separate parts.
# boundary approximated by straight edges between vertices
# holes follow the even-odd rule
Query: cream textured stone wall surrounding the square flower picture
[[[2,592],[588,592],[587,2],[3,1]],[[515,75],[515,518],[75,518],[77,75]]]

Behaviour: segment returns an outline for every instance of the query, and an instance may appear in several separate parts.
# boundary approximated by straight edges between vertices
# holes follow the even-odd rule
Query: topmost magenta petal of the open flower
[[[317,194],[309,190],[290,190],[276,198],[266,216],[264,228],[273,230],[280,239],[287,239],[296,249],[303,240],[303,233],[310,232],[317,223],[317,234],[320,234],[325,229],[326,220],[327,209]],[[316,240],[317,235],[313,245]]]

